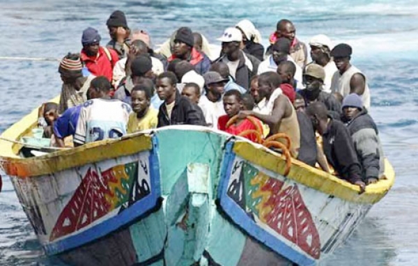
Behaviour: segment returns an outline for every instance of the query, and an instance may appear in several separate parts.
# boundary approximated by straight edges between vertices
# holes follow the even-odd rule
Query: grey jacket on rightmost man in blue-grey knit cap
[[[384,158],[376,123],[364,109],[346,125],[353,139],[359,163],[362,164],[364,180],[378,179],[384,170]]]

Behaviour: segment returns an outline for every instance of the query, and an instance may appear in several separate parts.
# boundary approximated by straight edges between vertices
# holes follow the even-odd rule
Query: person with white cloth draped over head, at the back
[[[259,61],[263,61],[264,47],[261,45],[261,34],[256,26],[248,19],[242,19],[235,25],[242,34],[241,49],[246,54],[255,56]]]

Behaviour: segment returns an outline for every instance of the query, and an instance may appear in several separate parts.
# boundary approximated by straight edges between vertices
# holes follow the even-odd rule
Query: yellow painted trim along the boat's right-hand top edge
[[[284,171],[285,160],[261,146],[256,147],[246,141],[237,141],[233,146],[233,151],[243,159],[275,173],[282,174]],[[359,194],[358,186],[336,178],[330,173],[308,166],[296,159],[292,159],[291,171],[287,178],[346,201],[373,204],[380,201],[394,184],[394,169],[387,159],[385,160],[385,175],[387,179],[367,186],[366,191],[361,195]]]

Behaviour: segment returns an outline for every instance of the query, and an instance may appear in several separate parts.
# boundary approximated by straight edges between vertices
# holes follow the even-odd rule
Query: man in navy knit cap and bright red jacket
[[[119,60],[114,49],[107,49],[100,46],[100,35],[96,29],[88,27],[83,31],[83,49],[80,58],[88,71],[95,76],[107,77],[111,81],[113,68]]]

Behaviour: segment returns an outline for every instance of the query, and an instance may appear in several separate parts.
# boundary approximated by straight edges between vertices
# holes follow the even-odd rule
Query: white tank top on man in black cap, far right
[[[331,85],[331,91],[341,93],[343,97],[346,97],[350,94],[350,80],[353,75],[356,73],[359,73],[363,75],[364,81],[366,86],[364,87],[364,93],[362,96],[363,105],[366,107],[366,109],[370,110],[370,91],[369,91],[369,85],[367,84],[366,76],[360,71],[358,68],[356,68],[354,65],[351,65],[350,68],[346,72],[343,73],[343,75],[340,74],[339,71],[336,71],[334,73],[334,76],[332,77],[332,85]]]

